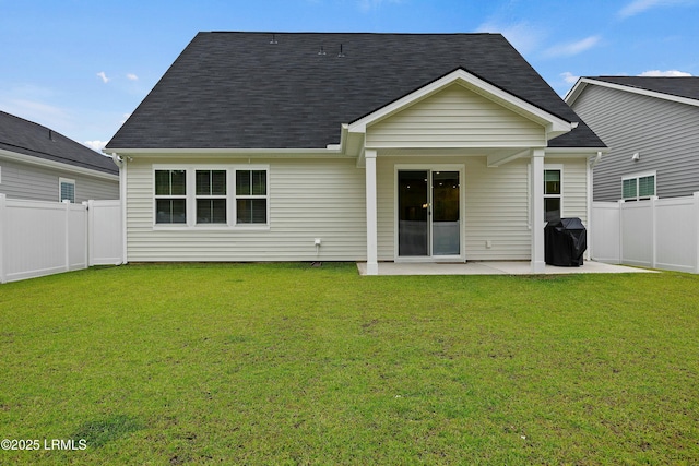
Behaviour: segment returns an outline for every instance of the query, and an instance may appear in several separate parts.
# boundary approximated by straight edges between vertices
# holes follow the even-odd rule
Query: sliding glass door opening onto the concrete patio
[[[460,172],[399,170],[398,255],[461,254]]]

